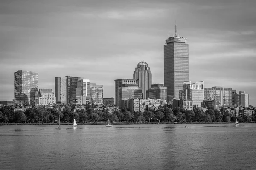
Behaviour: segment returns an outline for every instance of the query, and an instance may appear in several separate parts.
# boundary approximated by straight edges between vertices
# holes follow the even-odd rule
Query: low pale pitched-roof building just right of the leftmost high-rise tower
[[[35,93],[35,105],[56,104],[56,97],[52,89],[39,89]]]

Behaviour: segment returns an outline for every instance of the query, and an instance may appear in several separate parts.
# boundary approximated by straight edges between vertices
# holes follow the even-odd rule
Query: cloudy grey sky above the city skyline
[[[245,91],[256,106],[255,0],[1,0],[0,101],[14,98],[14,72],[39,74],[39,88],[72,75],[104,85],[133,79],[148,63],[163,83],[163,45],[189,44],[189,80]]]

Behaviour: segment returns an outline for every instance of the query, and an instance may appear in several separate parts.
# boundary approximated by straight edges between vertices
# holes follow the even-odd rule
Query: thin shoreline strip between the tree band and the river
[[[234,122],[184,122],[184,123],[177,123],[177,124],[230,124]],[[239,122],[239,123],[256,123],[256,122]],[[117,122],[117,123],[111,123],[111,125],[149,125],[149,124],[158,124],[158,122],[152,122],[152,123],[140,123],[140,122]],[[169,122],[160,122],[159,124],[173,124],[175,123],[169,123]],[[0,126],[4,125],[59,125],[58,123],[0,123]],[[61,125],[73,125],[73,123],[61,123]],[[78,123],[77,125],[106,125],[106,123]]]

